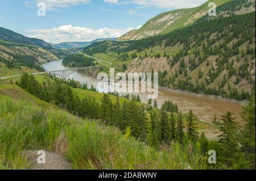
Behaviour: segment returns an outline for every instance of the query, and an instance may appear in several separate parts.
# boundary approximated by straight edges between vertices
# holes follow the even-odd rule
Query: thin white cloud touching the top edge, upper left
[[[27,7],[36,7],[39,2],[43,2],[46,4],[47,11],[55,11],[57,9],[64,9],[80,4],[87,4],[90,3],[90,0],[33,0],[26,1],[25,5]]]

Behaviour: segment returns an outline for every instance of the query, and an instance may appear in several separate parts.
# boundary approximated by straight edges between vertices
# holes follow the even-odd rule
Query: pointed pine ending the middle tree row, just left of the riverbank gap
[[[195,141],[197,139],[198,133],[196,131],[196,123],[195,123],[196,117],[193,114],[192,111],[188,112],[187,116],[187,134],[190,140]]]

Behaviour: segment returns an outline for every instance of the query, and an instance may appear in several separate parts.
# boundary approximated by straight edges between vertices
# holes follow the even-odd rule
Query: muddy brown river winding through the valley
[[[54,70],[64,70],[68,69],[62,64],[62,60],[52,61],[43,64],[43,68],[46,71]],[[93,85],[97,87],[96,79],[88,77],[79,73],[73,73],[69,78],[73,78],[75,81],[80,83],[87,83],[88,87]],[[147,103],[147,95],[140,93],[142,102]],[[214,115],[217,115],[218,119],[221,115],[226,113],[226,111],[231,111],[236,114],[237,120],[241,121],[240,112],[242,112],[242,104],[238,102],[233,102],[229,100],[214,99],[211,96],[190,94],[184,91],[167,90],[159,88],[158,105],[162,105],[165,100],[171,100],[177,103],[179,109],[183,112],[188,112],[192,110],[201,121],[211,122]]]

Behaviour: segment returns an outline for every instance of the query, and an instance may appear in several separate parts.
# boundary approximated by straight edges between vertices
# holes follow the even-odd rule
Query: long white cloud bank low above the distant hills
[[[27,33],[29,37],[36,37],[50,43],[60,43],[65,41],[92,41],[99,38],[119,37],[131,30],[134,30],[134,28],[100,28],[96,30],[93,28],[63,25],[52,29],[28,30]]]

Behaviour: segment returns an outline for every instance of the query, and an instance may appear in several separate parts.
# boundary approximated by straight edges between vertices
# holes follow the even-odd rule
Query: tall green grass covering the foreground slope
[[[0,169],[30,169],[27,149],[61,154],[73,169],[208,169],[199,148],[156,150],[99,121],[0,96]]]

